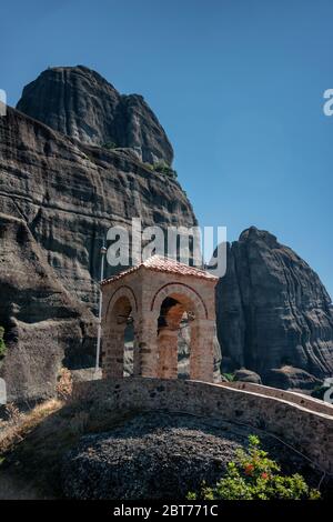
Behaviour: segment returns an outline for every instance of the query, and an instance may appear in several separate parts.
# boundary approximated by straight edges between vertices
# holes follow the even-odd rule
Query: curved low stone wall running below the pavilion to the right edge
[[[333,415],[282,399],[200,381],[103,379],[75,383],[73,400],[107,410],[167,410],[246,424],[280,438],[333,473]]]

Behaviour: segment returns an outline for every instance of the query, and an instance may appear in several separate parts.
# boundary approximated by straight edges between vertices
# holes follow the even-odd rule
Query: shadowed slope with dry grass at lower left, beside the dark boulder
[[[63,455],[83,434],[111,430],[137,412],[50,400],[0,430],[0,499],[62,496]],[[3,424],[3,423],[2,423]]]

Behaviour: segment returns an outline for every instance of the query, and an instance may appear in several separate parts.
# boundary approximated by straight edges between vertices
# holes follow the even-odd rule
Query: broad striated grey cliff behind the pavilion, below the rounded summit
[[[83,145],[12,109],[0,139],[1,211],[27,222],[60,281],[91,308],[110,227],[138,217],[142,227],[196,223],[178,181],[127,151]]]

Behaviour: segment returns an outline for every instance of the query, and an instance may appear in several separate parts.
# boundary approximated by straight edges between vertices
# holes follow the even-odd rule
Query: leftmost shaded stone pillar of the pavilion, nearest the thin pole
[[[112,324],[107,330],[107,339],[103,349],[103,378],[123,377],[125,324]]]

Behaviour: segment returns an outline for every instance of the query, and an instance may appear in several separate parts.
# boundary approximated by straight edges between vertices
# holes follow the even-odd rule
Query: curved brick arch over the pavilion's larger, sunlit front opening
[[[161,287],[151,301],[150,310],[160,310],[162,302],[171,294],[180,294],[188,299],[194,307],[201,319],[208,319],[208,309],[202,297],[192,287],[185,283],[171,282]]]

